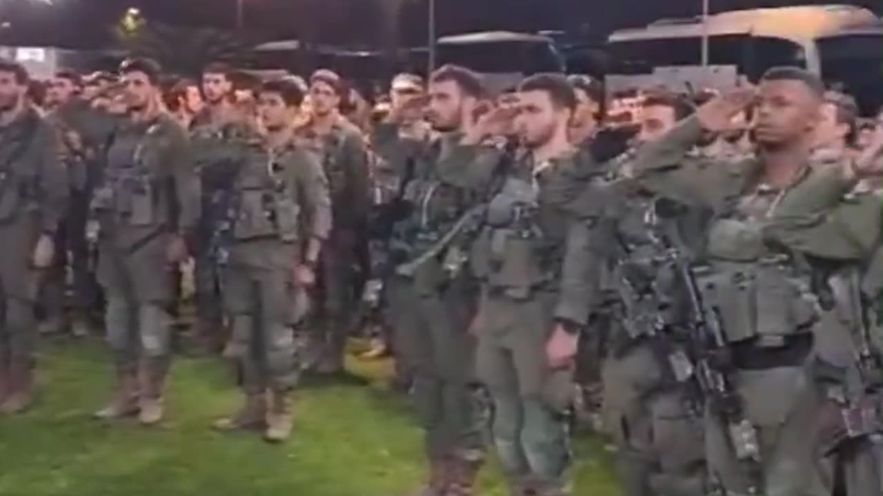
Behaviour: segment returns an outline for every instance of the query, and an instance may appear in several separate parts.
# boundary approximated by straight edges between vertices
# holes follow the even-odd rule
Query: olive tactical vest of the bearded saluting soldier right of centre
[[[555,278],[541,250],[535,184],[507,177],[487,205],[486,225],[473,246],[474,274],[508,297],[525,299]]]

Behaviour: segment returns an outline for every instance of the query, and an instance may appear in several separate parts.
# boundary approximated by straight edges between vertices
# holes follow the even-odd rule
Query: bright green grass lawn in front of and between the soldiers
[[[406,402],[382,386],[384,366],[352,367],[368,386],[302,388],[292,440],[269,446],[256,435],[208,428],[239,402],[220,360],[179,358],[168,419],[147,430],[90,418],[111,387],[98,342],[49,342],[40,402],[22,417],[0,417],[0,495],[408,494],[424,470],[419,429]],[[481,494],[506,494],[498,473],[485,470]],[[611,473],[598,441],[577,442],[577,495],[618,496]]]

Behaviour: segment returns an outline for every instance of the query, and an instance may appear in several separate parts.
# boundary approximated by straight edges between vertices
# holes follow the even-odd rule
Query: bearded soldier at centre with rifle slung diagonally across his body
[[[425,431],[429,480],[418,494],[449,496],[472,493],[485,450],[471,392],[474,344],[465,331],[475,291],[460,270],[464,248],[445,241],[463,230],[464,215],[485,193],[500,154],[478,147],[487,125],[473,121],[484,98],[476,74],[442,67],[430,79],[429,97],[429,121],[442,134],[416,159],[402,162],[411,171],[402,173],[408,177],[405,208],[390,255],[401,265],[389,278],[388,297],[397,357],[413,371],[412,394]],[[464,133],[473,125],[479,137],[467,142]],[[453,264],[442,263],[444,252],[454,255]]]

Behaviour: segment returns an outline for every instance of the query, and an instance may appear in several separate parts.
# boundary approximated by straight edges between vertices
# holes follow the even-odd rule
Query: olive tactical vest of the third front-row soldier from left
[[[300,207],[297,194],[285,181],[286,170],[280,158],[255,150],[239,170],[233,185],[233,239],[298,240]]]

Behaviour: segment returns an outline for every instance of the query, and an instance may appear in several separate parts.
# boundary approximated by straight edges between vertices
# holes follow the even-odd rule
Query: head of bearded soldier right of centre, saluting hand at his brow
[[[546,145],[555,138],[567,141],[577,95],[560,74],[537,74],[518,86],[515,127],[525,147]]]

